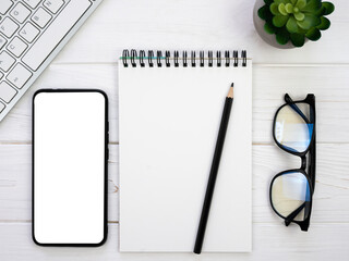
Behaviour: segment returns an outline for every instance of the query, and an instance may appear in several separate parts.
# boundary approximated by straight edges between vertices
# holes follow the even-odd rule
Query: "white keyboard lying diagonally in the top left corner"
[[[103,0],[0,0],[0,121]]]

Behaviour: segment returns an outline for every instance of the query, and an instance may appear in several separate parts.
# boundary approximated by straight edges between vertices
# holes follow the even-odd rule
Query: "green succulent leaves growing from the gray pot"
[[[322,0],[264,0],[258,16],[265,21],[264,29],[275,34],[280,45],[291,41],[302,47],[305,38],[316,41],[321,30],[326,30],[330,22],[325,16],[335,10],[332,2]]]

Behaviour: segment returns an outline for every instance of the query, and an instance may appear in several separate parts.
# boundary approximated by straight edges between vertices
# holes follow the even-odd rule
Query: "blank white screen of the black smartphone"
[[[105,232],[106,98],[98,91],[34,99],[34,239],[100,244]]]

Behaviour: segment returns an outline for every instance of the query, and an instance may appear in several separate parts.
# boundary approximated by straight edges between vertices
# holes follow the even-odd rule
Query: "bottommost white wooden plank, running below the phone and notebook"
[[[1,240],[2,260],[61,261],[61,260],[122,260],[122,261],[260,261],[260,260],[347,260],[348,224],[313,224],[309,233],[296,226],[254,223],[251,253],[120,253],[118,224],[109,224],[108,240],[100,248],[43,248],[31,243],[29,223],[0,223],[7,235]],[[341,240],[338,240],[341,238]]]

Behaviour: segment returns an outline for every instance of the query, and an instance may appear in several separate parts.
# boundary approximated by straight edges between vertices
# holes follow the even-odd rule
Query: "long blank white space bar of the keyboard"
[[[88,0],[70,1],[23,57],[23,62],[36,71],[91,4]]]

